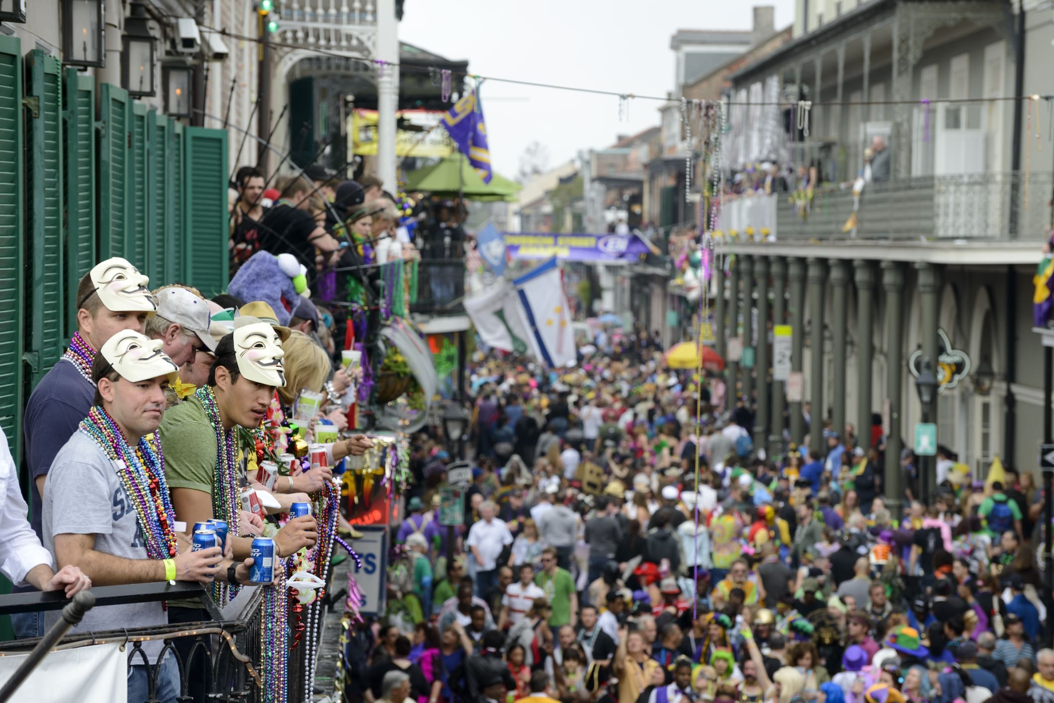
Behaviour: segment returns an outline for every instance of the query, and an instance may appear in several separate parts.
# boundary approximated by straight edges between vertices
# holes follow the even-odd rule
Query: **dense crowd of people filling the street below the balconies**
[[[973,482],[942,448],[931,494],[886,495],[880,426],[817,415],[824,453],[766,454],[717,376],[587,352],[476,353],[449,535],[449,447],[415,437],[414,568],[349,638],[346,700],[1054,701],[1031,476]]]

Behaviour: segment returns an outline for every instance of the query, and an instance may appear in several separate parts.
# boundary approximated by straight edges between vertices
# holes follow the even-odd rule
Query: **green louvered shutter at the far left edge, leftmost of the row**
[[[22,54],[0,35],[0,429],[15,465],[22,448]]]

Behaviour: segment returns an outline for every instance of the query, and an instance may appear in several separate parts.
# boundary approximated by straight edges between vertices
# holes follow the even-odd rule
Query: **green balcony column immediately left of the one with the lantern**
[[[890,435],[885,438],[885,503],[890,513],[900,514],[904,493],[900,469],[900,389],[903,372],[904,267],[899,261],[882,261],[882,290],[885,291],[885,396],[890,402]]]

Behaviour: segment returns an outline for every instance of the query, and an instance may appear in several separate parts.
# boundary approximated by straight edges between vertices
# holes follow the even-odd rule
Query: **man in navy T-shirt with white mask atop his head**
[[[43,536],[41,496],[47,471],[93,405],[96,352],[118,332],[143,331],[147,319],[157,310],[149,282],[129,261],[114,257],[93,267],[77,286],[77,331],[66,352],[33,390],[22,417],[25,461],[33,480],[31,523],[38,536]],[[37,614],[12,616],[17,637],[43,636],[43,618]]]

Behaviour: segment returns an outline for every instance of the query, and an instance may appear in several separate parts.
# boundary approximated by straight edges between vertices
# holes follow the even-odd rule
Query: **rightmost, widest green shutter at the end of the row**
[[[227,289],[227,132],[189,126],[187,143],[187,282],[212,297]]]

